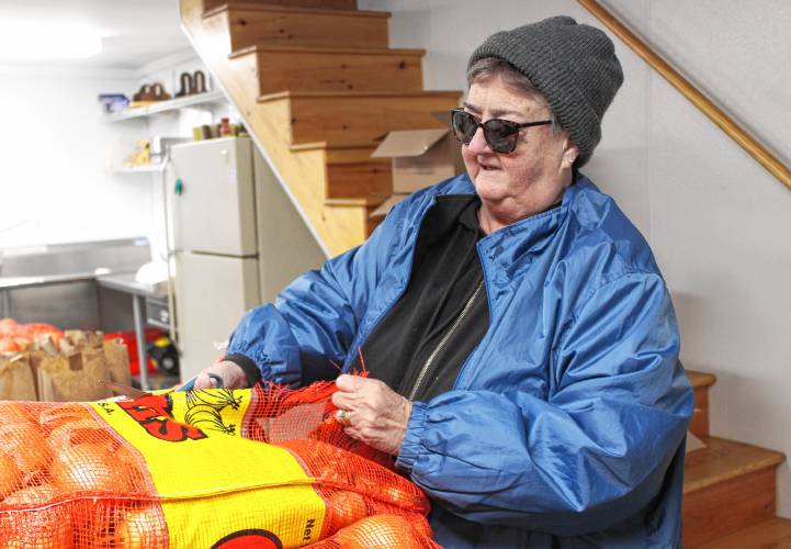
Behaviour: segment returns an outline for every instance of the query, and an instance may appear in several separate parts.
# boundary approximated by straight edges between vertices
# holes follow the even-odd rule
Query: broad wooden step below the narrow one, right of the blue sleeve
[[[786,457],[717,437],[687,455],[683,542],[694,547],[775,515],[777,466]]]

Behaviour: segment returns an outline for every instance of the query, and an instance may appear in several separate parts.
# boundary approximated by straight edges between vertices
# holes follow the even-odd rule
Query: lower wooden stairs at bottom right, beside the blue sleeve
[[[688,371],[694,389],[690,430],[707,446],[687,455],[683,545],[687,548],[791,547],[791,520],[775,516],[777,451],[709,435],[709,389],[716,379]]]

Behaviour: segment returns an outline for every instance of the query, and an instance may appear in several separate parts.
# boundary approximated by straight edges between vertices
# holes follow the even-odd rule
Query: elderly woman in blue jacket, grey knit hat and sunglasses
[[[578,168],[623,76],[573,19],[489,37],[452,112],[467,173],[249,312],[229,386],[337,378],[447,547],[675,547],[692,411],[648,245]],[[201,376],[197,386],[208,386]]]

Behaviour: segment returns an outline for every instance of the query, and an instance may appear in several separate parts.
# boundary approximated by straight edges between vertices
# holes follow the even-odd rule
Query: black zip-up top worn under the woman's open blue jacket
[[[489,326],[476,243],[481,200],[444,195],[429,210],[406,291],[362,345],[370,377],[410,400],[449,391]],[[354,368],[361,369],[360,358]]]

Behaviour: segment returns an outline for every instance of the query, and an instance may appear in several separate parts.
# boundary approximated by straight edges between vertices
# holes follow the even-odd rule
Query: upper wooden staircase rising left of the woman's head
[[[355,0],[181,0],[193,46],[325,250],[364,242],[393,192],[372,159],[392,130],[442,127],[459,91],[423,91],[421,49],[388,48],[388,13]]]

